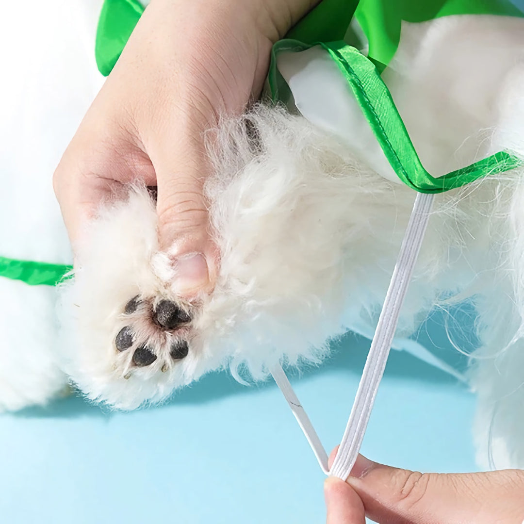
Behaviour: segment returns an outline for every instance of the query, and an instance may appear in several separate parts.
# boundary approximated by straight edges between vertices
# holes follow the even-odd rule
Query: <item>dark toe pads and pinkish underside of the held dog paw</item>
[[[189,354],[192,319],[187,305],[137,295],[126,302],[118,320],[115,366],[126,380],[148,366],[166,373]]]

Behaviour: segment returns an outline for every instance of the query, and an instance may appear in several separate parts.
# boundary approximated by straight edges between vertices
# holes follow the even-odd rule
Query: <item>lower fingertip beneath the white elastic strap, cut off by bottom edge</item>
[[[340,478],[328,477],[324,482],[328,517],[326,524],[364,524],[364,505],[353,488]]]

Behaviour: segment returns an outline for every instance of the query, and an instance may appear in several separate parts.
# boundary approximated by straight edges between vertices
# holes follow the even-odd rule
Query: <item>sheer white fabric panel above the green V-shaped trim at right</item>
[[[434,177],[508,146],[490,138],[499,127],[508,74],[521,61],[522,27],[522,18],[490,15],[402,22],[382,79]]]

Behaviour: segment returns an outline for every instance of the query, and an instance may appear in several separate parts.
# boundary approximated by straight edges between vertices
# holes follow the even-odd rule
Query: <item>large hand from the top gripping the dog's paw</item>
[[[213,288],[203,133],[259,96],[272,43],[316,2],[151,1],[53,177],[73,252],[100,203],[140,181],[158,187],[177,291]]]

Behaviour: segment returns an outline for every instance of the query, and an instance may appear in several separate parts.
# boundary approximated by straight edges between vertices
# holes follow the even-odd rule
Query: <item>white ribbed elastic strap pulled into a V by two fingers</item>
[[[408,285],[413,275],[413,269],[422,245],[424,233],[428,225],[433,194],[417,193],[408,227],[404,235],[400,254],[391,276],[384,305],[378,319],[377,329],[369,349],[361,381],[347,422],[344,436],[335,456],[335,460],[328,472],[327,457],[324,448],[311,424],[304,408],[289,384],[285,373],[280,366],[271,369],[278,387],[286,397],[294,416],[297,418],[302,431],[308,439],[324,473],[346,479],[355,464],[358,451],[364,439],[369,416],[373,409],[380,380],[395,336],[402,302],[406,297]]]

